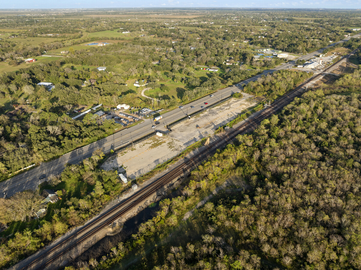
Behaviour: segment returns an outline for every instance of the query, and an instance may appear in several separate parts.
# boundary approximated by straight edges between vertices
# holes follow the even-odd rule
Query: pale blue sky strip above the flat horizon
[[[361,9],[361,0],[1,0],[0,8],[342,8]]]

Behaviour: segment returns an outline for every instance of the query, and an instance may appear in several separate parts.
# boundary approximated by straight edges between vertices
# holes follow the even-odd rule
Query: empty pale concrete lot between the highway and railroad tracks
[[[219,126],[233,120],[248,107],[256,105],[256,102],[247,100],[250,97],[253,96],[243,93],[241,99],[232,98],[219,106],[208,109],[190,120],[173,126],[173,131],[168,136],[154,136],[119,152],[113,159],[105,161],[102,168],[104,170],[117,169],[118,172],[122,172],[124,168],[127,177],[131,179],[139,177],[158,164],[178,155],[192,143],[212,135]],[[197,128],[197,125],[200,128]],[[165,128],[158,128],[158,130],[162,129],[165,130]]]

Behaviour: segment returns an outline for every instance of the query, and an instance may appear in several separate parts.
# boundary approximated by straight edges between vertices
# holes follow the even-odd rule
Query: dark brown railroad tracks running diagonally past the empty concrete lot
[[[348,58],[355,51],[351,52],[346,57]],[[344,58],[340,59],[339,61],[343,59]],[[339,63],[339,61],[327,67],[325,71],[335,66],[337,63]],[[98,231],[108,226],[109,224],[117,220],[119,217],[124,215],[125,213],[129,212],[137,204],[142,202],[144,199],[148,198],[154,192],[158,191],[161,187],[164,187],[170,181],[174,180],[175,178],[178,178],[179,176],[183,175],[185,172],[188,172],[191,168],[194,168],[194,166],[199,164],[202,160],[213,155],[217,151],[217,149],[219,149],[221,146],[227,145],[232,140],[234,140],[234,138],[238,134],[241,134],[249,129],[255,129],[257,125],[261,123],[262,120],[282,110],[283,107],[289,104],[290,102],[292,102],[295,97],[301,96],[301,94],[303,93],[303,91],[300,91],[301,88],[305,87],[310,81],[315,80],[320,76],[323,75],[318,74],[316,76],[312,76],[304,83],[300,84],[298,87],[293,89],[291,92],[283,95],[282,97],[279,97],[270,106],[265,108],[260,114],[254,117],[251,116],[247,122],[231,130],[229,133],[222,136],[220,140],[210,143],[207,147],[205,147],[205,149],[201,150],[199,154],[194,155],[187,160],[184,160],[182,164],[178,165],[169,173],[160,177],[154,183],[151,183],[148,186],[144,187],[143,189],[139,190],[134,195],[126,199],[123,203],[117,205],[116,207],[113,207],[108,212],[104,213],[102,216],[97,217],[88,225],[84,226],[81,230],[75,231],[67,239],[56,244],[47,252],[41,254],[33,261],[29,262],[28,264],[26,264],[25,266],[19,269],[26,270],[33,267],[36,270],[46,269],[50,264],[52,264],[58,258],[69,252],[71,249],[75,248],[77,245],[83,243],[91,236],[95,235]],[[297,93],[297,91],[299,91],[299,93]],[[72,240],[74,240],[74,243],[71,243]],[[40,265],[35,268],[35,264],[39,262],[41,262]]]

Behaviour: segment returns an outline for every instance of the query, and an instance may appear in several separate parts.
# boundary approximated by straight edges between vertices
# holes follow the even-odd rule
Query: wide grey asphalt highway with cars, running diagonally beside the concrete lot
[[[355,35],[353,37],[358,37],[360,35]],[[330,48],[334,46],[335,44],[338,44],[340,42],[344,42],[349,40],[350,37],[347,37],[346,39],[339,41],[337,43],[333,43],[328,45],[325,48],[319,49],[315,52],[306,54],[304,56],[301,56],[297,59],[300,60],[308,60],[313,58],[314,56],[319,55],[323,52],[324,49]],[[163,118],[160,120],[162,124],[170,124],[174,121],[183,118],[187,114],[192,114],[193,112],[202,110],[201,106],[208,107],[212,106],[213,104],[216,104],[221,99],[231,96],[233,93],[237,91],[242,91],[242,85],[248,84],[250,81],[256,81],[258,78],[260,78],[262,75],[266,75],[268,73],[273,73],[277,70],[281,69],[287,69],[291,68],[295,62],[297,61],[293,60],[288,63],[284,63],[282,65],[279,65],[271,70],[265,70],[261,74],[258,74],[256,76],[253,76],[252,78],[249,78],[247,80],[242,81],[239,83],[238,86],[233,85],[232,87],[227,87],[222,90],[218,90],[217,92],[213,93],[214,97],[205,96],[203,98],[197,99],[196,101],[193,101],[191,103],[188,103],[187,105],[184,105],[183,109],[175,109],[169,112],[166,112],[163,114]],[[207,102],[208,104],[205,105],[204,103]],[[191,106],[194,106],[192,109]],[[42,180],[39,180],[39,177],[45,174],[46,176],[49,176],[50,174],[59,174],[63,171],[66,163],[71,164],[78,164],[83,159],[89,158],[92,155],[92,152],[95,149],[102,149],[104,152],[110,151],[115,146],[116,148],[125,145],[129,142],[135,141],[138,138],[142,138],[146,136],[147,134],[151,134],[152,132],[155,132],[155,130],[152,128],[153,125],[152,119],[147,119],[143,121],[142,123],[139,123],[138,125],[135,125],[133,127],[127,128],[125,130],[122,130],[120,132],[114,133],[113,135],[110,135],[102,140],[99,140],[97,142],[91,143],[90,145],[84,146],[80,149],[76,149],[74,151],[69,152],[68,154],[65,154],[61,156],[60,158],[54,159],[52,161],[43,162],[39,166],[30,169],[29,171],[17,174],[16,176],[4,181],[1,183],[1,186],[3,186],[6,195],[12,196],[16,192],[27,190],[27,189],[36,189],[38,185],[47,178],[44,178]],[[116,131],[116,130],[115,130]],[[5,197],[5,194],[3,194],[2,188],[1,195]]]

